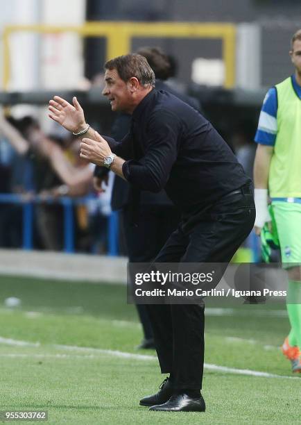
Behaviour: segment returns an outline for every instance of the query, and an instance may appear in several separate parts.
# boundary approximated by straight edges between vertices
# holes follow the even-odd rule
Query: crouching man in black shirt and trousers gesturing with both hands
[[[139,190],[163,188],[182,212],[155,263],[229,263],[255,222],[250,178],[203,115],[177,97],[153,90],[155,74],[143,56],[105,64],[105,95],[113,111],[132,115],[121,142],[101,137],[83,109],[55,96],[49,116],[80,137],[80,156],[108,167]],[[205,411],[204,303],[148,305],[162,374],[157,394],[141,399],[155,411]]]

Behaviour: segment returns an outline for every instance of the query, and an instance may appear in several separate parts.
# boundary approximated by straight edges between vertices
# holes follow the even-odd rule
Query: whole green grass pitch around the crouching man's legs
[[[8,297],[21,306],[6,308]],[[149,412],[139,399],[164,376],[154,351],[135,349],[141,329],[126,287],[0,276],[0,410],[48,410],[49,424],[300,423],[301,376],[291,378],[279,351],[284,305],[236,304],[218,315],[208,301],[205,363],[278,377],[206,367],[205,414]]]

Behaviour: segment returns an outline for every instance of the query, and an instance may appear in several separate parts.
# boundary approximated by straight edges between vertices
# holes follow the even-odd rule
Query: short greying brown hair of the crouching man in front
[[[105,69],[116,69],[121,80],[125,83],[132,77],[136,77],[144,87],[155,87],[155,73],[148,65],[144,56],[137,53],[117,56],[105,63]]]

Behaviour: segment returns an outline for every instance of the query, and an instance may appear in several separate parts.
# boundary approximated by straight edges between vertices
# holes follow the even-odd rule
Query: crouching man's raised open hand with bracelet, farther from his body
[[[83,108],[76,97],[72,99],[73,105],[62,97],[55,96],[49,101],[49,117],[58,122],[66,130],[78,133],[87,127]]]

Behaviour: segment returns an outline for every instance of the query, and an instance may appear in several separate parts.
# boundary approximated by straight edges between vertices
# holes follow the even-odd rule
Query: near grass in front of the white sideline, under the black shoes
[[[16,347],[20,350],[24,348]],[[91,360],[1,358],[1,406],[47,409],[49,424],[280,424],[291,423],[293,412],[298,418],[300,400],[292,381],[279,385],[276,378],[221,372],[205,374],[205,414],[149,412],[139,406],[139,399],[157,389],[158,367],[110,356]]]

